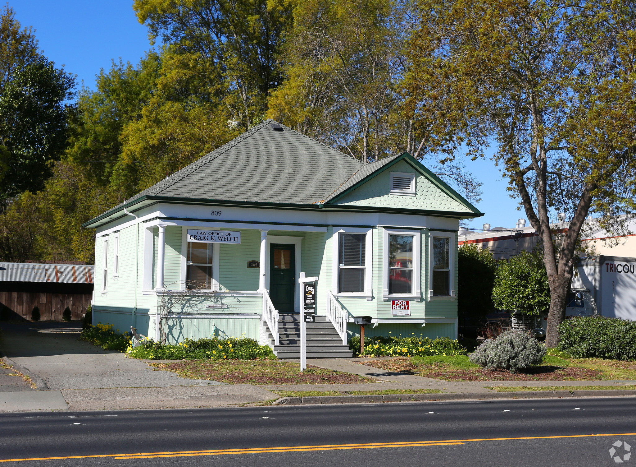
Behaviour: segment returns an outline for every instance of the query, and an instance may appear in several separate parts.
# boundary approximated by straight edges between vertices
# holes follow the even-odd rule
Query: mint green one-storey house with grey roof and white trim
[[[457,230],[480,216],[407,153],[363,164],[267,120],[84,224],[93,324],[296,357],[305,273],[308,357],[350,355],[354,317],[366,336],[457,338]]]

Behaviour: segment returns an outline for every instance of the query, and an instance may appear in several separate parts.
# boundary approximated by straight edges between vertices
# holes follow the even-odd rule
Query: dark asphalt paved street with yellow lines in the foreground
[[[5,413],[0,439],[48,466],[605,466],[636,449],[636,398]]]

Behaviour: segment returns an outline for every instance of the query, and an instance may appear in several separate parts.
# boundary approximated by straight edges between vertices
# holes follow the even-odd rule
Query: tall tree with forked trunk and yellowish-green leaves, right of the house
[[[576,244],[591,213],[630,213],[636,188],[636,8],[632,1],[418,0],[406,86],[437,97],[443,139],[490,141],[543,244],[547,345],[558,343]],[[565,212],[558,247],[551,218]]]

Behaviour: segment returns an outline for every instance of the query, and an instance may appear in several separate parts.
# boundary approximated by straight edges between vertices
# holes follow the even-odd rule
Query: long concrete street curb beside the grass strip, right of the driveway
[[[280,398],[272,405],[351,404],[408,401],[453,401],[466,399],[553,399],[598,396],[636,396],[633,390],[607,391],[509,391],[509,392],[464,392],[443,394],[382,394],[378,396],[306,396],[303,398]]]

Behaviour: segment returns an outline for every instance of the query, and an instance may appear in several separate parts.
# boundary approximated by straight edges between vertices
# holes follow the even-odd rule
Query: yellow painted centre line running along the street
[[[593,438],[597,436],[636,436],[636,433],[609,433],[609,434],[602,434],[602,435],[519,436],[515,438],[473,438],[473,439],[467,439],[467,440],[413,441],[413,442],[396,442],[396,443],[328,444],[328,445],[315,445],[315,446],[283,446],[283,447],[263,447],[263,448],[244,448],[244,449],[135,452],[130,454],[95,454],[92,456],[31,457],[31,458],[24,458],[24,459],[0,459],[0,462],[54,461],[54,460],[61,460],[61,459],[92,459],[95,457],[114,457],[115,459],[149,459],[153,457],[215,456],[219,454],[302,452],[302,451],[319,451],[319,450],[371,449],[371,448],[380,448],[380,447],[448,446],[448,445],[460,445],[460,444],[476,442],[476,441],[547,440],[547,439],[556,439],[556,438]]]

